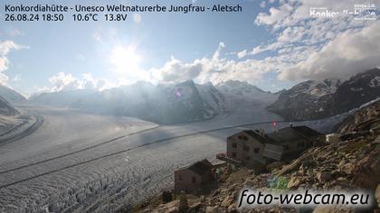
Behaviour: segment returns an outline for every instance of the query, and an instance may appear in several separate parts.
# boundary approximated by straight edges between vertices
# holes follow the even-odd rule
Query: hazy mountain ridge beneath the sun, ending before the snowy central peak
[[[99,114],[136,116],[157,124],[201,121],[224,111],[224,97],[210,84],[185,81],[177,85],[147,82],[101,92],[71,90],[33,97],[35,104],[68,106]]]

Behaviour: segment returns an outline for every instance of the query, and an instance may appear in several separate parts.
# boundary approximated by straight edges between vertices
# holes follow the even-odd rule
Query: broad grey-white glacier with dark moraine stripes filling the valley
[[[24,106],[43,116],[43,124],[0,144],[0,212],[104,212],[132,205],[173,187],[176,168],[225,152],[228,135],[244,128],[271,131],[272,120],[278,128],[289,125],[264,106],[232,103],[225,115],[185,125]],[[306,124],[328,132],[343,117]]]

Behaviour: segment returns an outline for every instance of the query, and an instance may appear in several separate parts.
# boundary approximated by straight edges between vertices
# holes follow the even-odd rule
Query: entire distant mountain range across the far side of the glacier
[[[0,86],[4,112],[13,113],[11,104],[26,99],[11,88]],[[43,93],[30,104],[79,108],[83,111],[135,116],[157,124],[179,124],[210,119],[236,110],[249,114],[266,107],[287,120],[312,120],[347,112],[380,97],[380,69],[370,69],[346,81],[308,80],[277,93],[261,90],[247,82],[228,80],[214,86],[137,82],[103,91],[77,89]],[[11,104],[10,104],[11,103]],[[10,107],[8,107],[10,106]],[[243,111],[242,111],[243,110]]]

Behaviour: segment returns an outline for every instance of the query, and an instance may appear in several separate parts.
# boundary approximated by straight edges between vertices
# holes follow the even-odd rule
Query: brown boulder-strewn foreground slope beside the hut
[[[238,212],[235,200],[240,190],[247,187],[256,190],[366,190],[378,199],[377,206],[375,204],[366,212],[378,212],[380,134],[371,129],[378,128],[379,110],[379,102],[358,110],[352,115],[355,119],[347,118],[337,126],[342,134],[339,142],[312,147],[292,162],[272,163],[264,173],[254,174],[246,168],[229,171],[224,167],[221,181],[204,188],[201,194],[187,195],[189,208],[185,212]],[[135,211],[179,212],[179,206],[178,199],[162,203],[157,196],[138,204]],[[311,211],[357,212],[353,208],[322,206],[308,212]],[[243,209],[242,212],[299,212],[299,209],[272,206]]]

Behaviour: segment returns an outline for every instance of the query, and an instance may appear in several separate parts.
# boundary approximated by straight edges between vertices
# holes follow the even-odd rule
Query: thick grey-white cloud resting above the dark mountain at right
[[[359,32],[347,31],[280,73],[280,79],[348,78],[359,71],[380,66],[380,24],[373,23]]]

